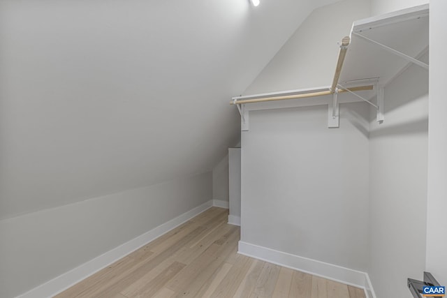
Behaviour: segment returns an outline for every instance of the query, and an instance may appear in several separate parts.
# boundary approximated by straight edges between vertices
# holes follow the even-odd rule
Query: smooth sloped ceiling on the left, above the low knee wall
[[[211,170],[241,94],[335,0],[0,0],[0,218]]]

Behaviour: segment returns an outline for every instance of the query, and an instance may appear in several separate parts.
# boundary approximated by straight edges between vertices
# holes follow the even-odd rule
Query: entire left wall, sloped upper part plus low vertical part
[[[212,199],[228,98],[330,2],[1,1],[0,296]]]

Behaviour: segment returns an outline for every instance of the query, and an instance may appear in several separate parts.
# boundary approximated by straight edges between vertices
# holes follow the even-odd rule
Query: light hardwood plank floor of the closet
[[[363,290],[237,254],[240,228],[212,207],[57,295],[365,298]]]

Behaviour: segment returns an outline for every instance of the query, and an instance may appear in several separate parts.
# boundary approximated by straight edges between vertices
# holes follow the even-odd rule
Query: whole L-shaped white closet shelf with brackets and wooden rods
[[[382,122],[383,88],[412,64],[427,69],[428,75],[429,15],[425,4],[354,22],[350,43],[347,37],[342,40],[332,86],[233,97],[231,103],[242,117],[242,131],[249,129],[249,111],[308,105],[328,105],[328,127],[338,127],[339,103],[363,100],[376,107],[377,121]],[[374,85],[374,90],[337,95],[337,83],[339,89]],[[292,95],[307,97],[291,99]]]

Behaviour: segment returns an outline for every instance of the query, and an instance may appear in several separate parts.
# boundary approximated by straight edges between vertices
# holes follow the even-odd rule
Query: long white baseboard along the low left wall
[[[83,279],[91,276],[91,274],[96,273],[97,271],[107,267],[108,265],[116,262],[117,260],[123,258],[129,253],[136,251],[141,246],[153,241],[154,239],[160,237],[166,232],[177,228],[177,226],[189,221],[189,219],[197,216],[203,211],[209,209],[213,206],[213,201],[210,200],[201,204],[200,206],[191,209],[184,214],[173,218],[172,220],[159,225],[158,227],[150,230],[149,232],[145,232],[130,241],[118,246],[117,248],[113,248],[111,251],[107,253],[103,253],[103,255],[99,255],[93,260],[89,260],[79,267],[72,269],[61,276],[57,276],[53,278],[51,281],[47,281],[42,285],[38,285],[38,287],[26,292],[22,295],[17,296],[17,298],[46,298],[53,297],[54,295],[59,294],[60,292],[70,288],[72,285],[79,283]]]

